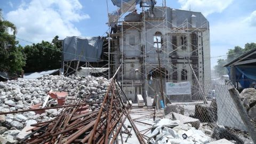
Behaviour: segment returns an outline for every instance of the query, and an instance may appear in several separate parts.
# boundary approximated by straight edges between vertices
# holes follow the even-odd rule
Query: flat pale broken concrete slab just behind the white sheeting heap
[[[199,119],[196,119],[196,118],[184,116],[184,115],[174,113],[174,112],[172,113],[172,118],[174,120],[179,120],[183,124],[191,124],[196,129],[198,129],[200,126]]]

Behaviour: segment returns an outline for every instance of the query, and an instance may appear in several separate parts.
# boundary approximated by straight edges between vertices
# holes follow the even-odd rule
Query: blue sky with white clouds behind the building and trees
[[[163,0],[157,0],[162,5]],[[210,23],[211,68],[228,49],[256,43],[255,0],[166,0],[172,9],[202,12]],[[111,0],[0,0],[5,20],[18,28],[21,45],[49,41],[55,35],[103,36]],[[23,39],[23,40],[21,40]],[[31,43],[30,43],[31,42]]]

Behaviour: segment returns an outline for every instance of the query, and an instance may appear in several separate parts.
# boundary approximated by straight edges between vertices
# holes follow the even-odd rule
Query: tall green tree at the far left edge
[[[13,34],[8,33],[9,29]],[[25,57],[22,53],[21,46],[16,46],[15,41],[17,28],[7,20],[4,20],[2,10],[0,9],[0,71],[9,72],[10,74],[20,73],[25,65]]]

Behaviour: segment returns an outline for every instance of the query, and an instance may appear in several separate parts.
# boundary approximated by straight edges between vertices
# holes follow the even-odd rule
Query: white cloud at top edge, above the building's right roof
[[[191,11],[202,12],[205,17],[211,13],[221,13],[233,1],[234,0],[178,0],[182,10],[189,10],[191,7]]]

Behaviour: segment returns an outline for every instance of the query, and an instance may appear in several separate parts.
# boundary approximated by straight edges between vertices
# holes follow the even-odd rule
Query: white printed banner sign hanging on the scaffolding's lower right
[[[191,86],[189,82],[183,83],[166,83],[167,95],[191,94]]]

